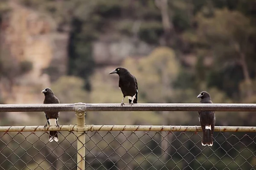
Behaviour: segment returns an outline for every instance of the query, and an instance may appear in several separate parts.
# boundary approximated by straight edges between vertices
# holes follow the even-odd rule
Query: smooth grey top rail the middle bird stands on
[[[256,111],[256,104],[140,103],[121,106],[120,103],[75,104],[3,104],[0,112],[40,111]]]

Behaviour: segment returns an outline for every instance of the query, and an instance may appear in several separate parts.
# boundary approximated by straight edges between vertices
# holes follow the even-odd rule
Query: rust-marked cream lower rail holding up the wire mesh
[[[34,132],[34,131],[190,131],[200,132],[201,126],[144,126],[144,125],[61,125],[60,128],[49,126],[0,126],[0,132]],[[256,132],[256,127],[247,126],[215,126],[215,132]]]

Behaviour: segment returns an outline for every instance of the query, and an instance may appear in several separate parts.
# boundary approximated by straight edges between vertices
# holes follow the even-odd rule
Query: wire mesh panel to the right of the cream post
[[[88,132],[87,170],[253,170],[255,134],[217,133],[212,147],[193,132]]]

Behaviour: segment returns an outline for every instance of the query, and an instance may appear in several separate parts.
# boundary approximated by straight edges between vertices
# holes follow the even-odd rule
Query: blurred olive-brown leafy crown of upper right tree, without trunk
[[[238,11],[215,10],[214,17],[205,18],[198,14],[198,36],[201,41],[212,47],[213,54],[219,62],[234,60],[238,57],[236,44],[242,49],[245,44],[248,49],[248,37],[254,34],[255,29],[250,20]],[[218,63],[219,63],[218,62]]]

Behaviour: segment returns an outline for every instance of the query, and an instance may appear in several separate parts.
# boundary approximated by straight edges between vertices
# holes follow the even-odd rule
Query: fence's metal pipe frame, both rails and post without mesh
[[[0,126],[0,132],[75,131],[77,136],[77,170],[85,169],[86,133],[88,131],[202,131],[200,126],[144,126],[144,125],[85,125],[86,111],[256,111],[256,104],[195,104],[195,103],[140,103],[121,106],[115,104],[25,104],[0,105],[0,112],[72,111],[77,125],[56,126]],[[256,127],[215,126],[215,132],[256,132]],[[16,141],[15,141],[16,142]],[[17,168],[16,168],[17,169]]]

